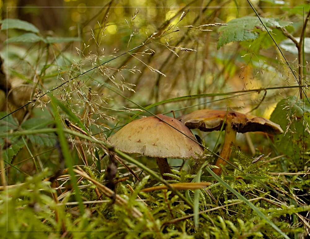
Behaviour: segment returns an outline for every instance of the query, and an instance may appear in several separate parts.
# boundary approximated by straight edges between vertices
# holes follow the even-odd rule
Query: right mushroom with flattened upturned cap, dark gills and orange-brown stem
[[[226,116],[227,114],[227,116]],[[190,129],[199,129],[204,132],[210,132],[213,130],[220,130],[224,119],[225,138],[222,151],[219,156],[225,160],[229,160],[232,153],[232,146],[236,140],[236,134],[262,131],[269,134],[281,134],[283,130],[280,125],[273,123],[272,121],[257,117],[254,115],[241,114],[235,111],[226,110],[196,110],[187,115],[178,117],[182,123],[184,123]],[[226,165],[226,161],[221,158],[216,160],[215,165],[219,167],[220,164]],[[222,169],[215,168],[213,172],[217,175],[221,174]]]

